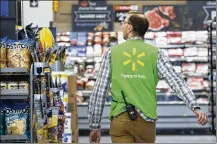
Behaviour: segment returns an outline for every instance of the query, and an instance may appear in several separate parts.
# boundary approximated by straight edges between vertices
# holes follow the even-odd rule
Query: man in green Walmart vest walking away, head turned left
[[[100,122],[107,90],[111,82],[112,104],[110,135],[113,143],[154,143],[156,137],[158,79],[164,79],[205,125],[207,116],[196,98],[174,71],[168,57],[143,38],[149,23],[142,14],[129,14],[122,30],[126,42],[105,53],[89,103],[90,142],[100,142]],[[123,92],[123,95],[122,95]],[[126,100],[126,103],[124,101]],[[135,107],[133,119],[128,108]],[[133,120],[131,120],[131,118]]]

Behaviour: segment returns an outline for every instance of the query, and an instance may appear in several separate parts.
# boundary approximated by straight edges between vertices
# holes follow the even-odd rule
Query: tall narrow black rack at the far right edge
[[[210,69],[210,98],[209,114],[211,117],[212,133],[216,134],[216,22],[208,24],[209,32],[209,69]],[[215,75],[214,75],[215,74]],[[215,78],[214,78],[215,77]]]

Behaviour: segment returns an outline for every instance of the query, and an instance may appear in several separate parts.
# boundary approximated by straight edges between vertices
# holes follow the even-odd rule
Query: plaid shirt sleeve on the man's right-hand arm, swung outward
[[[195,108],[200,108],[196,97],[187,83],[175,72],[168,57],[159,50],[158,53],[158,77],[164,79],[167,84],[176,92],[178,97],[182,99],[185,104],[194,111]]]

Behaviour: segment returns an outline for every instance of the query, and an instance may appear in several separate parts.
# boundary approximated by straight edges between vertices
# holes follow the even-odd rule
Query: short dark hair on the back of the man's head
[[[149,22],[145,17],[133,14],[129,17],[128,23],[132,25],[133,32],[140,37],[144,37],[149,28]]]

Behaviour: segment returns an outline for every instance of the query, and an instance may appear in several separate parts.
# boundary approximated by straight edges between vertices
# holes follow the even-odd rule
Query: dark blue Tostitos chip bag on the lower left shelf
[[[8,103],[5,109],[7,135],[25,135],[29,138],[29,106],[28,103]]]

